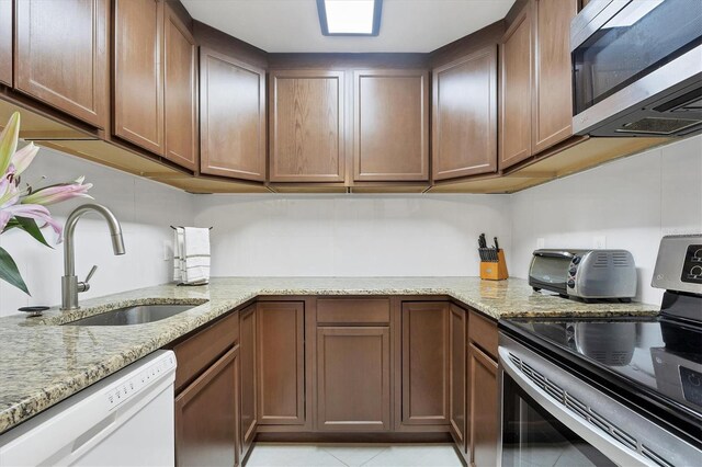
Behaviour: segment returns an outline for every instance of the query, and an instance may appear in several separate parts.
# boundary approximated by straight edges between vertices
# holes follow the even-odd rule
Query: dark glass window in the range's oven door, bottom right
[[[507,374],[502,384],[503,467],[615,466],[541,408]]]

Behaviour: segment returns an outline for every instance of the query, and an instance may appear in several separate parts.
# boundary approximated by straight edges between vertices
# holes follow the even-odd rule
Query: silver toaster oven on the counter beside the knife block
[[[529,285],[585,301],[631,301],[636,295],[636,266],[626,250],[536,250]]]

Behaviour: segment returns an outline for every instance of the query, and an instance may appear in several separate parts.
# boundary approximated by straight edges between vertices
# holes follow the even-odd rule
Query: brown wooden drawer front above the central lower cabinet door
[[[335,324],[387,323],[388,298],[322,298],[317,300],[317,322]]]

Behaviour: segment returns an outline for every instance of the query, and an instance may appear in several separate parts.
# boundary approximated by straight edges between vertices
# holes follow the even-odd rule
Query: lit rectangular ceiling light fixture
[[[381,32],[383,0],[317,0],[321,34],[376,36]]]

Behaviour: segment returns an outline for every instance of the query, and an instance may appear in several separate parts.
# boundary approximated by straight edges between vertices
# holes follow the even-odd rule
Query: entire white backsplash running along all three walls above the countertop
[[[611,162],[514,195],[190,195],[46,148],[25,181],[86,175],[113,209],[127,254],[113,257],[106,225],[92,215],[77,231],[80,278],[100,266],[80,298],[168,282],[169,225],[213,226],[213,275],[477,275],[477,236],[498,236],[512,276],[525,277],[537,239],[545,248],[631,250],[638,299],[659,301],[650,276],[663,235],[702,231],[702,136]],[[63,223],[81,201],[54,206]],[[50,236],[50,234],[47,234]],[[60,301],[63,250],[0,236],[32,297],[0,282],[0,316]]]

